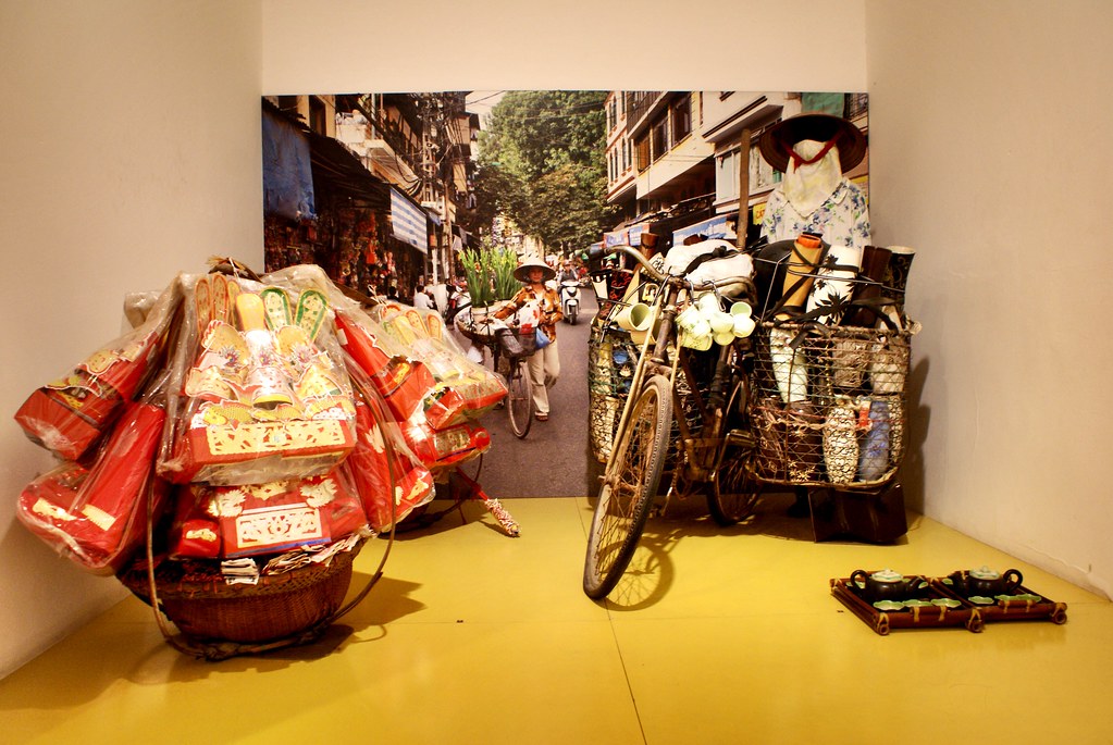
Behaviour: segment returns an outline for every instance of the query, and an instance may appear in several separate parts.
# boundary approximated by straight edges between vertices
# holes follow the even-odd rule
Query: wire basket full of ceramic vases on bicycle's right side
[[[839,264],[818,238],[810,260],[798,246],[755,251],[764,320],[752,342],[749,468],[766,484],[877,489],[904,457],[918,325],[904,315],[903,287]]]

